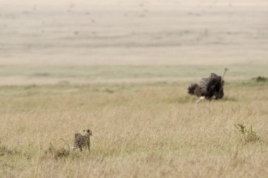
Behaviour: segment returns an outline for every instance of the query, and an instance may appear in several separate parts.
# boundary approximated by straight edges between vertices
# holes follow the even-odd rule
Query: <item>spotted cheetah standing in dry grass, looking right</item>
[[[90,136],[92,136],[92,132],[90,129],[84,129],[83,132],[85,132],[85,135],[80,133],[75,134],[72,147],[73,151],[75,151],[76,148],[79,148],[80,151],[83,151],[83,147],[85,146],[87,146],[88,151],[90,151]]]

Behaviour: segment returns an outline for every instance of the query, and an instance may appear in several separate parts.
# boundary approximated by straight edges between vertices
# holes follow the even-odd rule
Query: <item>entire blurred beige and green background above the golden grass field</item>
[[[268,76],[267,0],[0,0],[0,84]]]

